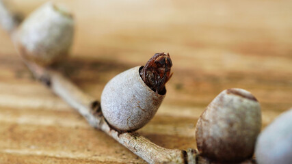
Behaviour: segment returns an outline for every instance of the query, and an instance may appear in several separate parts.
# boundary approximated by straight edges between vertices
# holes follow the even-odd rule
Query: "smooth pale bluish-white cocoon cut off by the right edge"
[[[256,161],[259,164],[292,163],[292,108],[258,135]]]

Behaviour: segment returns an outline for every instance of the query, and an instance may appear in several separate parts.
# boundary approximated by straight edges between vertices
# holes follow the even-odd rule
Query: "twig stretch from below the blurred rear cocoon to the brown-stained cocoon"
[[[28,68],[36,79],[47,85],[57,96],[63,98],[71,107],[76,109],[94,128],[107,133],[123,146],[140,156],[148,163],[187,163],[195,159],[187,159],[184,150],[162,148],[152,143],[138,133],[119,133],[110,128],[103,115],[99,102],[88,96],[79,88],[55,70],[42,68],[26,61]],[[194,152],[194,151],[193,151]],[[196,156],[194,156],[196,157]]]

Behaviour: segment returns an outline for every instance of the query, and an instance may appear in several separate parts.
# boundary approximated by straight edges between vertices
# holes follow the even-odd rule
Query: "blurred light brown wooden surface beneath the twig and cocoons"
[[[28,14],[43,1],[10,1]],[[60,68],[100,98],[119,72],[170,53],[174,75],[140,133],[165,148],[196,148],[194,126],[217,94],[249,90],[263,128],[292,107],[292,1],[60,1],[76,37]],[[0,30],[0,163],[144,163],[32,79]]]

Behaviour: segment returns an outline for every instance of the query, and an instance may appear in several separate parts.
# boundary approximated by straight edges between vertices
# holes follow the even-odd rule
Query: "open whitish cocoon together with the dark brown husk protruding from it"
[[[101,110],[109,125],[129,132],[147,124],[165,97],[171,66],[168,54],[157,53],[146,66],[131,68],[111,79],[101,95]]]

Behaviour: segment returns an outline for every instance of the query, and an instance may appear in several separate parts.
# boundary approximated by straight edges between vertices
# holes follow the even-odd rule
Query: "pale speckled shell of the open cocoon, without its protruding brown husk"
[[[135,131],[147,124],[165,97],[144,83],[140,68],[118,74],[103,89],[101,110],[105,120],[118,131]]]

